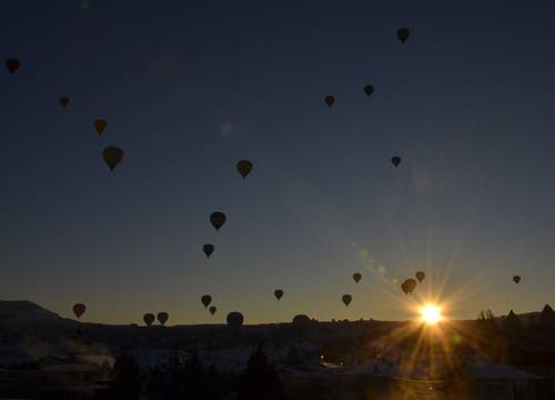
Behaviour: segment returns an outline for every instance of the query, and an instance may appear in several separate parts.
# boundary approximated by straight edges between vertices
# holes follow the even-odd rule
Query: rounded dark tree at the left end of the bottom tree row
[[[142,392],[142,376],[132,354],[122,353],[113,366],[112,393],[115,399],[138,400]]]

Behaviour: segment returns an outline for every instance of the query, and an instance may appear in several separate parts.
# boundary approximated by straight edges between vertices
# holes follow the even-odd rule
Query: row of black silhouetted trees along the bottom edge
[[[262,344],[251,354],[241,376],[224,376],[203,366],[196,352],[182,361],[174,357],[167,366],[143,373],[129,353],[117,358],[111,397],[138,400],[142,393],[158,400],[223,399],[236,393],[238,400],[284,399],[282,382],[269,363]]]

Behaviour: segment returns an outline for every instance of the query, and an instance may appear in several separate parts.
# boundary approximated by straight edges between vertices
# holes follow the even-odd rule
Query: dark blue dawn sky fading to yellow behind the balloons
[[[17,1],[0,26],[22,61],[0,73],[2,298],[122,323],[555,303],[553,2]]]

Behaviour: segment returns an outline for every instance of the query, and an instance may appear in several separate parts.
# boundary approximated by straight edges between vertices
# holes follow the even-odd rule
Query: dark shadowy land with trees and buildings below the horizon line
[[[228,327],[82,323],[0,302],[0,399],[553,399],[555,312]]]

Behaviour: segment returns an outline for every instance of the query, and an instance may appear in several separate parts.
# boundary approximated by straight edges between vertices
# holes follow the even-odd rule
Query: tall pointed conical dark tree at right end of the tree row
[[[264,346],[261,343],[249,358],[246,370],[241,377],[239,400],[280,400],[285,394],[278,373],[268,362]]]

